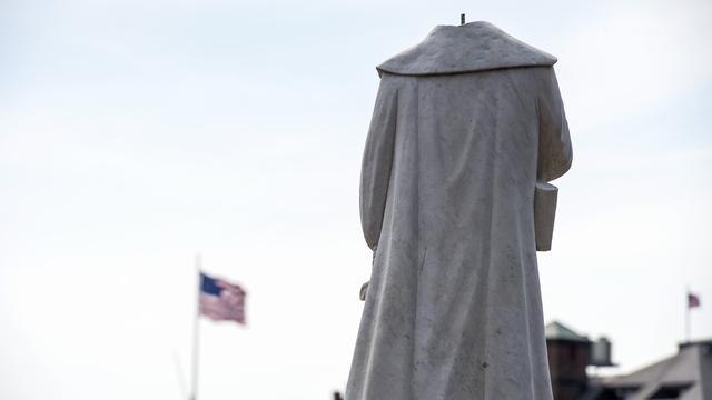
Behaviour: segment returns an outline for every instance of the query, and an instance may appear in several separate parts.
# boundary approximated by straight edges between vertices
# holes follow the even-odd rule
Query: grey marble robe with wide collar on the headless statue
[[[571,166],[555,62],[473,22],[377,68],[346,400],[552,398],[533,202]]]

